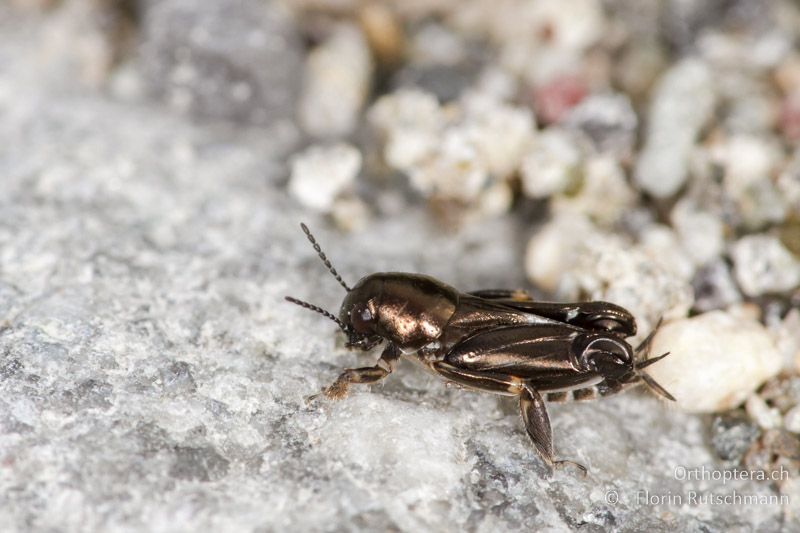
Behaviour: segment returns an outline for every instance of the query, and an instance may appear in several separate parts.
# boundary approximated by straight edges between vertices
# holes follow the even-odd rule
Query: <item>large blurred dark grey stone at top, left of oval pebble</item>
[[[293,21],[259,0],[142,0],[146,91],[211,120],[274,126],[294,117],[302,49]]]

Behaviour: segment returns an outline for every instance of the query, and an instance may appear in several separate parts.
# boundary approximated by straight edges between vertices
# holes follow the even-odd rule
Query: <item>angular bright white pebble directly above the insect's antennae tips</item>
[[[304,206],[329,212],[361,169],[361,152],[349,144],[312,146],[292,159],[289,192]]]

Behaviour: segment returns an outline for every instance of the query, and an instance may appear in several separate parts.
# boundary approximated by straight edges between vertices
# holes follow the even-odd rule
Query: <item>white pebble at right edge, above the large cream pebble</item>
[[[769,235],[742,237],[731,246],[736,280],[748,296],[789,291],[800,284],[800,261]]]

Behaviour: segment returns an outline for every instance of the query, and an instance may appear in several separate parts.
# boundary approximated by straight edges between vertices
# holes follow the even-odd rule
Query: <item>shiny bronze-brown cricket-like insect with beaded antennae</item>
[[[328,271],[347,291],[339,316],[287,296],[333,320],[347,347],[371,350],[385,343],[374,366],[345,370],[315,399],[340,399],[351,384],[377,383],[400,357],[465,389],[517,396],[525,429],[552,472],[574,461],[556,460],[545,400],[587,400],[646,383],[674,400],[642,370],[669,355],[639,362],[655,333],[634,350],[625,340],[636,321],[608,302],[548,303],[523,291],[462,293],[430,276],[379,272],[352,288],[331,264],[305,224],[300,225]]]

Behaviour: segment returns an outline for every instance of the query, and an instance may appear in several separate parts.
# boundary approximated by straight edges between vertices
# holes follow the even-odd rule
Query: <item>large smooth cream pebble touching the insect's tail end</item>
[[[782,357],[761,323],[711,311],[665,324],[650,348],[670,352],[647,372],[681,409],[713,413],[740,405],[781,369]]]

